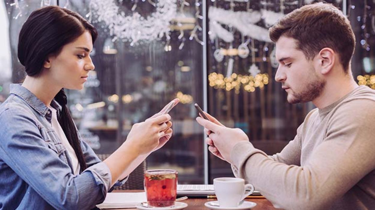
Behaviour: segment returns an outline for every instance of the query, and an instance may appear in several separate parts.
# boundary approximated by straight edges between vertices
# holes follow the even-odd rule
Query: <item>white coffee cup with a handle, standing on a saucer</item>
[[[220,207],[237,207],[243,199],[254,191],[252,184],[245,184],[242,178],[214,178],[213,187]],[[250,191],[246,192],[246,189]]]

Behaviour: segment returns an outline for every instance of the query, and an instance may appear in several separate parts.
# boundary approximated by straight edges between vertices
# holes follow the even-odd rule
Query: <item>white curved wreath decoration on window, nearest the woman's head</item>
[[[132,15],[119,13],[119,7],[114,0],[92,0],[90,2],[92,17],[97,21],[104,21],[110,30],[111,36],[116,39],[127,39],[130,45],[139,40],[152,41],[164,35],[169,38],[170,22],[176,17],[177,0],[159,0],[156,3],[156,12],[148,17],[142,17],[138,12]]]

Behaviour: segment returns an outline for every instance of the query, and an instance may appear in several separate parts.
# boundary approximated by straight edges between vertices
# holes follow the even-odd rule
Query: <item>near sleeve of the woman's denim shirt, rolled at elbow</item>
[[[90,209],[104,201],[111,184],[105,163],[72,174],[69,165],[49,148],[53,144],[43,139],[43,128],[24,110],[4,110],[0,125],[1,159],[52,207]]]

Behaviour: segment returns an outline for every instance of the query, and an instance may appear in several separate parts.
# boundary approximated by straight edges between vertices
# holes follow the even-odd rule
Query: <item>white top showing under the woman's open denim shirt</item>
[[[60,140],[61,140],[62,144],[64,145],[64,147],[68,151],[68,155],[69,155],[70,159],[72,160],[74,175],[77,175],[77,174],[80,173],[80,164],[78,164],[77,155],[75,154],[73,147],[69,144],[69,141],[66,138],[65,133],[64,133],[62,127],[60,126],[60,123],[58,123],[58,121],[57,121],[57,111],[52,107],[49,107],[49,109],[52,111],[52,119],[51,119],[52,128],[55,130],[57,135],[60,137]]]

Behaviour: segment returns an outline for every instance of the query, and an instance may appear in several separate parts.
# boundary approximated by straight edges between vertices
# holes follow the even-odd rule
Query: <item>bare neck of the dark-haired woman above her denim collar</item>
[[[43,77],[26,76],[22,86],[33,93],[46,106],[50,106],[56,94],[61,90],[61,87],[56,87],[50,81],[44,80]]]

